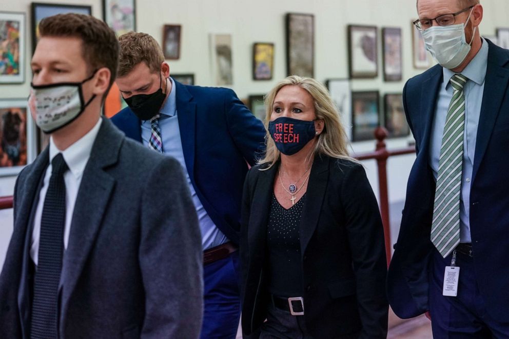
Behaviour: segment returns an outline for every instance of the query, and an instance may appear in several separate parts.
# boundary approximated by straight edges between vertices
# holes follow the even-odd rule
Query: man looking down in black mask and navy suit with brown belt
[[[186,86],[169,77],[163,52],[150,35],[131,32],[119,41],[116,84],[129,107],[112,122],[181,163],[202,231],[201,337],[234,338],[240,316],[242,188],[248,164],[256,163],[264,149],[265,129],[232,90]]]

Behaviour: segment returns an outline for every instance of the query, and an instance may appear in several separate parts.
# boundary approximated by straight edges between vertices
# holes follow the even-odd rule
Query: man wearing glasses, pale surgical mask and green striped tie
[[[436,338],[509,337],[509,51],[479,34],[478,0],[418,0],[438,65],[403,89],[417,158],[387,292]]]

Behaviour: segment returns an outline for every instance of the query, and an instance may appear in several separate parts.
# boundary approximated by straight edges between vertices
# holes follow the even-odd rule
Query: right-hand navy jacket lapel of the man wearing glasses
[[[486,151],[490,137],[497,120],[497,116],[502,105],[502,100],[507,92],[509,82],[509,70],[502,67],[509,62],[506,53],[501,53],[499,47],[488,43],[488,65],[486,68],[486,78],[484,83],[484,92],[482,95],[481,114],[479,116],[479,126],[477,127],[476,151],[474,155],[474,168],[472,182],[474,182],[477,171]]]

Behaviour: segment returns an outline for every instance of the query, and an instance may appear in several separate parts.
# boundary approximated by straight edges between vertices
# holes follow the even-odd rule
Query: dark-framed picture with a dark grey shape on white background
[[[350,78],[378,76],[378,31],[376,26],[348,26]]]

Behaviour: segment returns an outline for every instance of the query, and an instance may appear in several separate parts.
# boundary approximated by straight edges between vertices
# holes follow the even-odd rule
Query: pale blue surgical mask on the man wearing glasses
[[[454,69],[461,65],[472,48],[477,27],[474,27],[470,43],[466,43],[465,27],[470,21],[472,9],[465,24],[433,26],[421,32],[426,49],[445,68]]]

